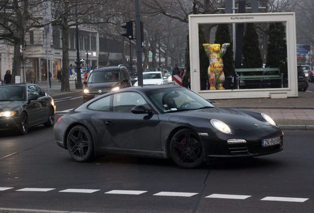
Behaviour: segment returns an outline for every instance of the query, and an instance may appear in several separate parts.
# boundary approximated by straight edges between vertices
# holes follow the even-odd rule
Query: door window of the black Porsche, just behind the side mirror
[[[138,105],[150,108],[145,99],[138,93],[125,92],[114,95],[114,112],[132,112],[132,108]]]

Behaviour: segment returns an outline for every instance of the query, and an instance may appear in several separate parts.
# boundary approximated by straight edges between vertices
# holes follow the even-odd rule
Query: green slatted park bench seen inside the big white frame
[[[240,81],[242,80],[245,81],[245,85],[256,84],[256,81],[252,82],[252,80],[260,80],[258,84],[278,84],[278,82],[272,82],[272,80],[280,80],[281,88],[283,87],[283,74],[280,73],[279,68],[246,68],[235,69],[235,71],[237,89],[239,89]],[[247,75],[248,72],[250,72],[250,75]]]

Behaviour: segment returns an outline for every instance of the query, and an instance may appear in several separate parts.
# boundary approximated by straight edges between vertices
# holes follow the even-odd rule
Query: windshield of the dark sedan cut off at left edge
[[[0,101],[23,101],[24,98],[24,87],[0,87]]]

